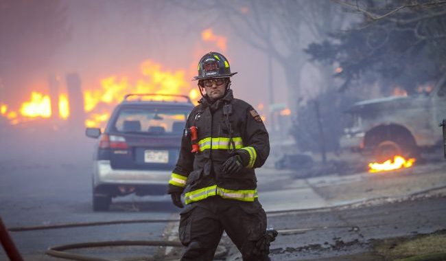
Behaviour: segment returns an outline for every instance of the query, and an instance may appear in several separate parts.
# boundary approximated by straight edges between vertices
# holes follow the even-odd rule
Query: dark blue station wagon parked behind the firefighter
[[[126,95],[115,107],[93,155],[93,210],[106,211],[112,198],[167,194],[181,137],[193,104],[187,96]]]

